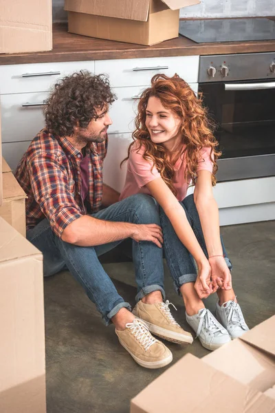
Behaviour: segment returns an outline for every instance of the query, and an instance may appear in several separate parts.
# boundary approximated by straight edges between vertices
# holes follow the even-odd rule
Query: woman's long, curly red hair
[[[218,142],[213,136],[214,125],[207,117],[206,108],[201,104],[201,96],[197,98],[191,87],[177,74],[168,77],[165,74],[156,74],[151,80],[151,87],[142,92],[140,101],[137,106],[137,116],[135,118],[135,131],[133,140],[128,149],[128,156],[122,162],[129,159],[131,148],[137,144],[135,150],[144,147],[144,156],[146,160],[152,160],[153,165],[157,168],[162,179],[171,191],[176,195],[173,188],[173,177],[175,175],[174,167],[168,160],[168,153],[165,147],[159,143],[154,143],[145,126],[146,107],[148,99],[151,96],[159,98],[166,109],[171,109],[182,120],[181,136],[182,143],[186,145],[181,153],[175,154],[175,157],[186,157],[186,169],[184,178],[186,181],[195,184],[197,177],[197,165],[200,160],[199,150],[202,147],[210,147],[210,156],[213,162],[212,185],[216,184],[215,173],[217,172],[217,158],[221,152],[217,150]],[[178,156],[177,156],[178,155]]]

